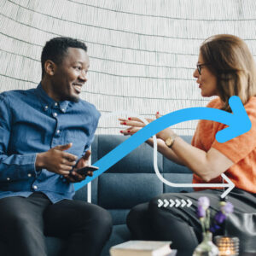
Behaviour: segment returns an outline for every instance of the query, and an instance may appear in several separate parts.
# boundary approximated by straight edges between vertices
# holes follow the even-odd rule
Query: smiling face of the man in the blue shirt
[[[61,64],[56,65],[52,77],[52,94],[56,101],[79,102],[89,65],[89,57],[84,49],[67,49],[67,54]]]

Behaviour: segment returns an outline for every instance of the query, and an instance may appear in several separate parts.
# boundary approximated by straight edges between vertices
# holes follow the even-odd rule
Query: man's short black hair
[[[74,38],[58,37],[52,38],[46,42],[41,55],[42,78],[44,77],[45,73],[45,61],[50,60],[54,61],[55,64],[60,64],[65,54],[67,54],[67,49],[69,47],[84,49],[87,52],[87,46],[83,42]]]

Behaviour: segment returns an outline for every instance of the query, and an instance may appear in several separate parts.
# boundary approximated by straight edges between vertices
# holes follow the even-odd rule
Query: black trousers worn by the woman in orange
[[[207,196],[211,201],[211,215],[219,210],[222,189],[207,189],[193,193],[172,193],[155,197],[149,203],[140,204],[131,209],[127,225],[134,239],[172,241],[172,248],[177,255],[192,255],[201,242],[201,223],[196,217],[197,200]],[[187,200],[193,202],[191,207],[158,207],[158,200]],[[233,189],[228,201],[234,205],[234,212],[255,212],[256,197],[241,189]],[[220,235],[215,234],[215,235]]]

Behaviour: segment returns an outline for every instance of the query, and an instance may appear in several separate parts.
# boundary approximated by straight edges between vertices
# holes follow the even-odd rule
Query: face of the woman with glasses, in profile
[[[198,57],[198,65],[204,64],[201,53]],[[210,97],[210,96],[218,96],[217,90],[217,78],[206,66],[201,66],[201,74],[198,72],[197,68],[193,73],[194,78],[196,78],[196,83],[199,84],[199,88],[201,89],[201,96]]]

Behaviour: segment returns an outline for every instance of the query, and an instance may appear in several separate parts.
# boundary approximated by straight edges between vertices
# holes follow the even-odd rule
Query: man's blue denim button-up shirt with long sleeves
[[[92,143],[100,113],[89,102],[55,102],[42,85],[0,94],[0,198],[41,191],[53,203],[71,199],[73,183],[36,170],[37,153],[73,143],[80,158]]]

